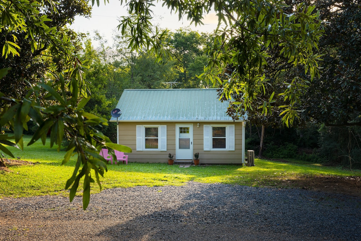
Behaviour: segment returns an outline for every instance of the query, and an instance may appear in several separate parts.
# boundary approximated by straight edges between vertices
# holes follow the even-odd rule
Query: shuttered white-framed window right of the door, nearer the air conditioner
[[[234,151],[234,125],[204,125],[205,151]]]

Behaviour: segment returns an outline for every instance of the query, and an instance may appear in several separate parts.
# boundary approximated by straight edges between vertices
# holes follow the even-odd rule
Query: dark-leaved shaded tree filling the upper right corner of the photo
[[[360,4],[345,0],[337,4],[337,10],[334,4],[317,1],[313,10],[321,12],[325,34],[316,46],[321,54],[315,53],[305,70],[313,72],[319,65],[322,72],[312,79],[309,91],[302,96],[304,111],[300,115],[326,125],[361,126]]]

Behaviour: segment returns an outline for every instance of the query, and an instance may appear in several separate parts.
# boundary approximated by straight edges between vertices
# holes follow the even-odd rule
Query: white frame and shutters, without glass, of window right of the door
[[[203,147],[204,151],[234,151],[235,150],[235,125],[204,125]],[[226,128],[226,148],[212,147],[212,127]]]

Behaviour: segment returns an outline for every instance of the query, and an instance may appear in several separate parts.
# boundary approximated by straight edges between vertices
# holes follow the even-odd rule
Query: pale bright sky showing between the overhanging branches
[[[101,36],[108,40],[108,44],[112,43],[113,30],[117,29],[119,25],[119,18],[121,16],[127,16],[127,10],[120,4],[118,0],[110,0],[110,3],[104,5],[104,1],[100,0],[100,5],[97,7],[93,6],[92,17],[75,17],[75,21],[70,28],[82,33],[90,33],[90,36],[94,36],[94,30],[98,30]],[[166,7],[162,8],[160,3],[157,3],[152,8],[155,14],[155,20],[153,25],[158,25],[161,28],[168,28],[170,30],[177,30],[181,27],[191,27],[192,30],[199,32],[212,33],[217,27],[218,18],[215,13],[210,13],[204,18],[204,25],[195,27],[194,24],[190,26],[190,22],[187,21],[186,17],[183,21],[178,21],[177,14],[170,14],[170,10]]]

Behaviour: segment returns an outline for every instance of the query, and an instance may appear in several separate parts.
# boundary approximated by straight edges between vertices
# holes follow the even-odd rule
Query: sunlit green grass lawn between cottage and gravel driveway
[[[30,137],[25,137],[25,143]],[[36,195],[69,195],[64,190],[65,182],[71,176],[75,157],[61,165],[64,151],[45,147],[41,142],[26,146],[25,151],[12,148],[13,154],[21,160],[39,162],[36,165],[10,166],[13,172],[0,171],[0,197],[30,197]],[[165,155],[167,158],[167,155]],[[184,185],[187,181],[206,183],[239,184],[248,186],[280,186],[282,179],[304,176],[361,176],[359,171],[347,171],[319,164],[282,163],[263,159],[255,160],[255,167],[241,165],[211,165],[179,168],[165,163],[132,163],[128,165],[107,165],[108,172],[101,178],[103,189],[128,188],[132,186]],[[82,184],[79,185],[82,188]],[[93,183],[92,193],[99,192]],[[81,195],[81,193],[78,193]]]

